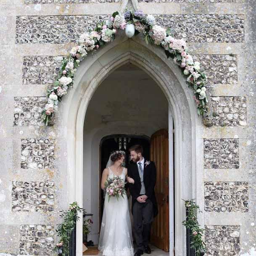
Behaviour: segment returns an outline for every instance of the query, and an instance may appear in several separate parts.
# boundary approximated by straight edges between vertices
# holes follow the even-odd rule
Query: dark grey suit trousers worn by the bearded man
[[[151,223],[153,222],[153,203],[147,199],[145,203],[136,201],[132,209],[134,222],[134,236],[137,249],[144,249],[148,245]]]

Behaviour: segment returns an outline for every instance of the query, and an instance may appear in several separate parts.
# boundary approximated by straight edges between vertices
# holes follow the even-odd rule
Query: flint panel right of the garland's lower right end
[[[246,98],[243,96],[212,96],[216,126],[245,126]]]

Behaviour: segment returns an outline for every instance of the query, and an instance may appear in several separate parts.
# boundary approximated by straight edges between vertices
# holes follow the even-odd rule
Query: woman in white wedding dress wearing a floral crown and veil
[[[122,167],[124,151],[111,154],[101,179],[101,188],[105,190],[105,182],[113,175],[125,180],[127,169]],[[129,180],[130,181],[130,180]],[[105,197],[103,217],[100,229],[98,249],[103,256],[133,256],[132,228],[129,216],[127,195],[124,198]]]

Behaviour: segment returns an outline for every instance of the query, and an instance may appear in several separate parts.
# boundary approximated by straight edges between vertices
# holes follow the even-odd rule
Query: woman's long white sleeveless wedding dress
[[[108,167],[108,178],[113,178],[113,172]],[[125,180],[125,169],[121,179]],[[129,216],[127,195],[124,198],[105,197],[103,217],[100,229],[98,249],[103,256],[133,256],[132,228]]]

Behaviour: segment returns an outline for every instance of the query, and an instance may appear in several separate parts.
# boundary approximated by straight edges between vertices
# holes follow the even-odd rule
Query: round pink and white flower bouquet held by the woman
[[[111,196],[115,196],[118,200],[120,195],[124,198],[125,194],[125,185],[126,182],[123,181],[119,176],[114,175],[113,178],[107,179],[105,182],[106,194],[108,195],[108,201]]]

